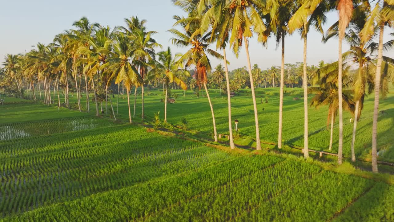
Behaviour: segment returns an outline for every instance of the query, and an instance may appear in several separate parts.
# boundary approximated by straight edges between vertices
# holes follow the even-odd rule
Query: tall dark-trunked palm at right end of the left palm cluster
[[[125,30],[126,34],[133,36],[135,47],[140,50],[145,51],[145,56],[140,58],[136,58],[133,62],[134,65],[139,67],[139,73],[141,75],[141,103],[142,103],[142,113],[141,119],[144,119],[144,79],[147,73],[148,63],[151,60],[155,59],[155,51],[154,48],[162,47],[162,45],[158,44],[156,40],[151,38],[152,35],[156,34],[155,31],[147,31],[145,23],[147,22],[145,19],[139,20],[138,17],[131,17],[130,19],[125,19],[127,27],[122,27]],[[134,98],[136,100],[136,98]]]

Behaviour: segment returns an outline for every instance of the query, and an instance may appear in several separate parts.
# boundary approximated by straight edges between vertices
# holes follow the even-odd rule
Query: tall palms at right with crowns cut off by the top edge
[[[383,32],[385,26],[391,26],[394,20],[394,2],[390,0],[378,1],[362,1],[362,0],[296,0],[296,1],[262,1],[262,0],[173,0],[174,4],[183,8],[188,12],[188,17],[182,21],[189,24],[198,24],[194,35],[204,35],[206,32],[210,33],[212,41],[216,41],[216,48],[223,51],[223,66],[225,68],[225,77],[227,83],[227,96],[229,108],[229,131],[230,131],[230,147],[234,148],[231,132],[231,102],[230,102],[230,84],[229,71],[226,60],[226,47],[230,47],[232,51],[238,56],[240,47],[243,45],[246,52],[246,64],[249,73],[249,83],[253,98],[253,107],[255,113],[256,125],[256,149],[261,149],[260,135],[258,128],[258,113],[256,107],[255,87],[253,71],[249,58],[249,38],[255,34],[257,40],[262,44],[266,44],[269,37],[274,36],[277,45],[281,45],[282,62],[281,62],[281,77],[280,77],[280,102],[279,102],[279,127],[278,127],[278,148],[282,147],[282,107],[283,107],[283,88],[284,88],[284,46],[285,37],[299,30],[301,38],[303,39],[303,88],[304,88],[304,156],[309,157],[308,152],[308,84],[307,83],[307,36],[310,28],[316,29],[318,32],[324,33],[322,25],[326,21],[326,14],[329,11],[338,10],[339,19],[328,30],[327,35],[323,40],[326,41],[333,36],[337,36],[338,41],[338,62],[333,65],[322,68],[322,74],[329,75],[329,68],[336,66],[335,75],[331,74],[326,77],[337,88],[338,98],[338,115],[339,115],[339,135],[338,135],[338,164],[342,164],[342,145],[343,145],[343,57],[349,58],[352,53],[348,52],[342,55],[342,40],[348,40],[351,34],[346,33],[349,24],[352,28],[358,27],[358,34],[360,43],[367,45],[376,35],[376,30],[379,30],[379,42],[370,44],[372,52],[377,51],[378,55],[376,64],[370,63],[371,69],[374,69],[374,91],[375,91],[375,107],[373,120],[373,136],[372,136],[372,169],[377,172],[377,114],[379,107],[379,92],[381,88],[381,68],[383,61]],[[346,33],[346,34],[345,34]],[[354,37],[354,36],[353,36]],[[351,48],[359,47],[359,45],[351,42]],[[368,45],[369,46],[369,45]],[[392,42],[386,45],[390,48]],[[361,47],[363,49],[363,47]],[[354,49],[353,51],[357,51]],[[363,51],[364,53],[368,53]],[[357,52],[359,53],[359,52]],[[354,53],[353,53],[354,54]],[[359,54],[361,60],[365,57]],[[368,60],[368,59],[367,59]],[[387,59],[388,60],[388,59]],[[345,60],[346,61],[346,60]],[[360,62],[359,62],[360,63]],[[386,67],[392,64],[387,62]],[[359,67],[359,72],[362,66]],[[331,70],[331,73],[333,70]],[[387,76],[383,73],[383,76]],[[356,81],[360,81],[356,78]],[[361,80],[362,82],[362,80]],[[275,85],[275,83],[273,83]],[[322,85],[324,85],[322,83]],[[356,85],[360,85],[356,83]],[[363,99],[361,92],[362,88],[357,87],[354,96],[356,101],[355,114],[356,119],[359,117],[358,111],[360,109],[360,100]],[[357,113],[356,113],[357,112]],[[357,121],[355,121],[355,128]],[[354,135],[353,135],[354,137]],[[353,143],[354,145],[354,143]],[[353,147],[352,145],[352,147]],[[352,148],[353,149],[353,148]],[[354,156],[354,151],[352,151]],[[352,157],[353,158],[353,157]]]

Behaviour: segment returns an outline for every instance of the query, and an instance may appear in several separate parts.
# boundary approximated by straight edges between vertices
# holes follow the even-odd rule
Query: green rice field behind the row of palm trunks
[[[391,91],[394,90],[391,87]],[[188,126],[204,133],[212,132],[212,115],[206,97],[203,97],[202,90],[200,97],[197,98],[191,90],[183,96],[182,90],[172,90],[178,94],[177,102],[168,104],[167,119],[174,125],[180,124],[180,119],[186,117]],[[288,145],[303,147],[303,100],[301,98],[301,88],[285,88],[283,106],[283,142]],[[220,95],[219,90],[210,90],[212,103],[214,104],[217,131],[221,134],[228,134],[227,122],[227,96]],[[278,134],[278,110],[279,110],[279,88],[258,88],[256,89],[257,108],[260,125],[260,137],[263,142],[277,143]],[[293,100],[299,97],[301,100]],[[309,100],[313,95],[309,96]],[[56,97],[57,98],[57,97]],[[90,96],[92,98],[92,95]],[[161,119],[164,119],[164,103],[160,102],[163,98],[162,90],[151,90],[147,95],[145,90],[145,114],[148,119],[153,119],[153,113],[160,111]],[[265,99],[268,99],[266,103]],[[61,101],[64,99],[61,98]],[[114,109],[116,110],[117,95],[112,98]],[[76,96],[70,94],[71,103],[76,102]],[[82,106],[86,109],[86,97],[82,98]],[[130,97],[131,108],[133,109],[134,96]],[[248,135],[236,143],[239,145],[255,146],[255,122],[253,118],[253,105],[250,90],[241,90],[241,92],[231,99],[232,119],[238,119],[240,133]],[[104,107],[104,103],[103,103]],[[105,109],[105,107],[104,107]],[[108,109],[110,104],[108,102]],[[367,97],[364,103],[361,119],[357,126],[357,136],[355,143],[355,153],[357,158],[370,159],[371,141],[372,141],[372,116],[374,109],[374,98]],[[90,103],[90,110],[95,112],[94,103]],[[378,143],[379,156],[382,160],[394,161],[394,95],[389,94],[385,100],[381,100],[378,123]],[[327,124],[327,107],[315,109],[309,108],[309,148],[320,151],[328,151],[330,132],[326,128]],[[110,111],[108,110],[108,114]],[[132,110],[133,114],[133,110]],[[83,114],[82,114],[83,115]],[[141,120],[141,95],[139,94],[136,103],[135,121]],[[109,115],[108,115],[109,116]],[[122,95],[119,99],[119,117],[128,119],[128,108],[126,96]],[[1,118],[1,117],[0,117]],[[350,156],[351,134],[353,123],[349,120],[353,118],[349,112],[344,112],[344,155]],[[233,124],[234,125],[234,124]],[[333,151],[337,152],[338,148],[338,121],[334,127]]]

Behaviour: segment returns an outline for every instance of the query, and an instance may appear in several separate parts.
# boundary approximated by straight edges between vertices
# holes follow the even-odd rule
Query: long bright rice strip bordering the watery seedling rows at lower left
[[[54,215],[73,212],[69,220],[80,220],[83,215],[89,215],[89,220],[132,220],[157,212],[164,207],[170,207],[182,199],[189,199],[197,194],[206,192],[223,184],[249,175],[250,172],[261,170],[283,159],[274,156],[236,157],[224,152],[223,156],[217,156],[214,161],[203,164],[198,163],[190,171],[181,173],[177,177],[160,177],[156,182],[146,182],[138,186],[130,186],[125,189],[105,192],[76,201],[67,202],[63,205],[50,205],[37,211],[26,212],[14,218],[14,220],[56,220]],[[188,164],[188,163],[185,163]],[[186,166],[186,165],[184,165]],[[197,167],[198,166],[198,167]],[[168,167],[173,167],[168,166]],[[197,169],[196,169],[197,167]],[[155,167],[151,167],[152,170]],[[122,183],[123,175],[119,175],[119,183]],[[116,177],[112,177],[116,180]],[[152,181],[152,180],[149,180]],[[174,189],[177,187],[177,189]],[[95,203],[95,204],[93,204]],[[95,206],[86,207],[86,206]],[[116,210],[111,210],[116,206]],[[105,211],[104,211],[105,209]],[[89,211],[89,212],[87,212]],[[50,214],[48,214],[50,212]],[[51,215],[51,216],[49,216]],[[49,216],[49,217],[47,217]],[[77,219],[78,218],[78,219]]]

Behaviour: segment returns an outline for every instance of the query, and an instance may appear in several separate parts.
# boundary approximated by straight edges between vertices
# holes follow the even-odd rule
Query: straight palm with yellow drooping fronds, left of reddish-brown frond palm
[[[308,152],[308,84],[307,84],[307,35],[310,25],[323,33],[322,24],[325,22],[324,13],[328,10],[327,2],[314,2],[312,0],[301,1],[297,11],[288,22],[289,32],[296,29],[301,32],[304,40],[303,56],[303,88],[304,88],[304,157],[309,157]],[[317,3],[317,4],[316,4]]]

